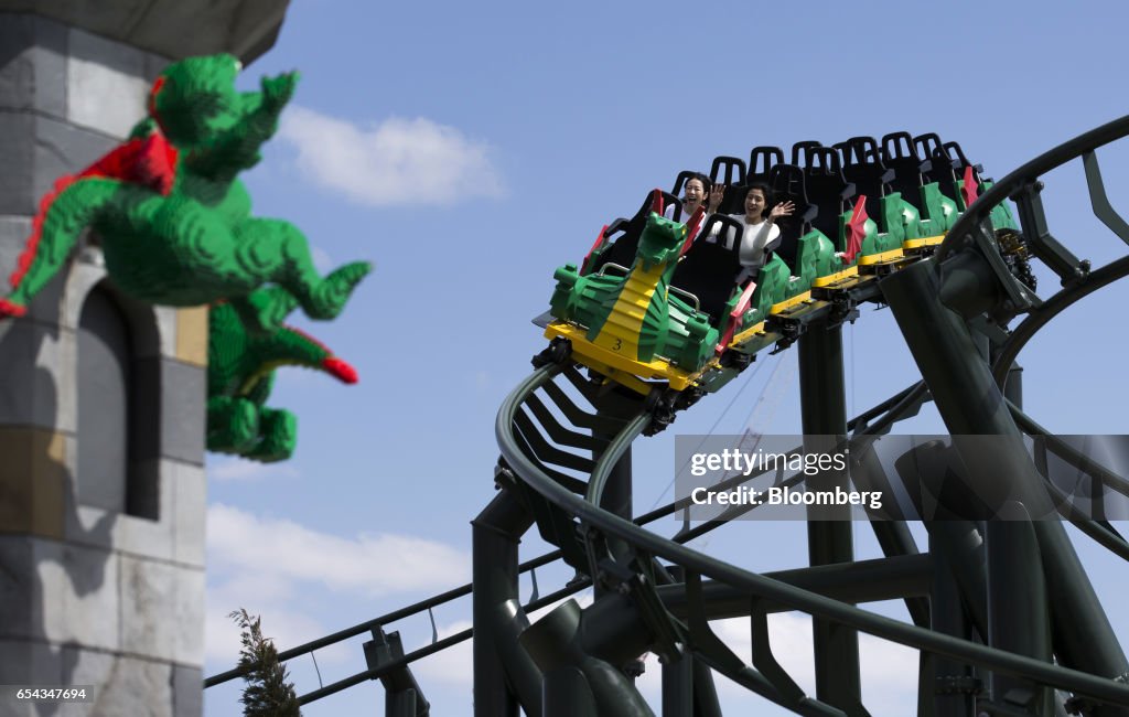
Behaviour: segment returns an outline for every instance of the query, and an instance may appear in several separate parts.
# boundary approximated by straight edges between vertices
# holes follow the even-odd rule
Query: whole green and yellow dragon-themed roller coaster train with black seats
[[[754,281],[742,281],[750,273],[739,262],[742,222],[723,215],[702,221],[695,213],[685,224],[664,218],[669,207],[681,216],[681,203],[654,190],[633,218],[601,230],[579,268],[557,270],[545,338],[568,341],[574,360],[642,394],[656,385],[714,391],[761,349],[790,342],[787,318],[821,304],[813,288],[825,297],[873,280],[860,274],[927,255],[990,186],[959,146],[935,134],[887,134],[881,146],[873,138],[803,145],[793,156],[806,156],[805,168],[776,164],[768,172],[777,201],[794,202],[796,211],[779,221],[779,244],[768,247]],[[928,161],[917,148],[930,154]],[[1016,228],[1004,204],[992,224]]]

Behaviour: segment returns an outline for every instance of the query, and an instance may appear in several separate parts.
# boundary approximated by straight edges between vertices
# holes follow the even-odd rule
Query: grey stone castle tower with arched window
[[[168,61],[250,63],[286,6],[0,0],[3,286],[40,198],[125,135]],[[0,717],[201,714],[207,331],[120,295],[94,244],[0,322],[0,684],[96,692]]]

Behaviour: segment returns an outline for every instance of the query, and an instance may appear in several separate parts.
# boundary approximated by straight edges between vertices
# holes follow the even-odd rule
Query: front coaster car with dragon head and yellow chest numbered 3
[[[640,393],[666,382],[683,391],[721,368],[738,332],[758,332],[770,308],[811,286],[829,262],[838,266],[830,242],[807,237],[802,277],[772,256],[756,283],[739,261],[744,225],[714,215],[685,225],[660,216],[671,194],[655,190],[630,221],[605,227],[580,269],[557,270],[557,289],[545,329],[549,339],[571,342],[574,358]],[[613,241],[614,239],[614,241]],[[772,248],[772,247],[770,247]],[[746,364],[751,352],[728,357]]]

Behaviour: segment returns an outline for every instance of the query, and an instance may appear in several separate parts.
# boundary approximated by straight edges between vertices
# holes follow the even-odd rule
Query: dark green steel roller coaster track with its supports
[[[920,383],[848,421],[841,327],[806,325],[798,338],[805,434],[848,440],[855,467],[889,486],[881,466],[866,465],[868,447],[934,401],[954,437],[1000,439],[996,454],[964,462],[969,480],[1010,476],[1013,515],[1016,509],[1021,516],[1058,510],[1129,560],[1129,543],[1109,523],[1075,508],[1041,466],[1056,455],[1126,497],[1129,480],[1048,434],[1017,408],[1017,386],[1007,382],[1015,358],[1039,329],[1129,273],[1129,257],[1093,271],[1075,257],[1050,235],[1039,198],[1041,175],[1080,159],[1095,215],[1129,244],[1129,225],[1110,206],[1096,159],[1097,148],[1126,134],[1129,116],[1024,165],[965,211],[931,259],[881,281],[875,300],[890,305],[921,369]],[[1013,277],[1000,257],[987,219],[1006,199],[1018,208],[1030,254],[1062,280],[1047,299]],[[1019,314],[1026,317],[1015,329],[1004,329]],[[373,637],[366,644],[368,670],[304,694],[301,703],[379,679],[386,714],[427,715],[411,664],[473,633],[476,717],[519,710],[543,717],[653,715],[632,681],[634,661],[645,652],[663,663],[663,715],[720,715],[717,673],[795,714],[854,717],[870,714],[859,690],[857,633],[864,632],[919,650],[920,715],[1129,715],[1129,662],[1061,522],[927,522],[929,550],[920,552],[903,521],[872,521],[885,557],[856,561],[849,522],[813,521],[809,567],[744,570],[685,543],[755,506],[730,507],[673,537],[646,526],[685,508],[685,500],[632,519],[630,451],[654,418],[653,400],[607,391],[561,352],[546,352],[535,366],[498,413],[499,492],[473,522],[472,583],[282,653],[283,661],[292,659],[359,635]],[[1033,437],[1033,452],[1025,436]],[[954,438],[952,451],[963,449]],[[929,456],[936,454],[922,453]],[[899,470],[905,486],[925,481],[929,461],[921,465],[918,474]],[[559,550],[519,565],[518,541],[534,525]],[[544,596],[534,591],[522,604],[518,577],[557,561],[575,568],[577,577]],[[588,587],[595,594],[589,606],[566,600]],[[397,636],[384,630],[466,595],[473,600],[473,630],[444,639],[436,635],[431,645],[408,654]],[[912,624],[856,606],[895,598],[905,602]],[[562,600],[530,622],[534,610]],[[767,615],[780,611],[815,619],[814,696],[773,656]],[[711,620],[733,617],[750,621],[751,664],[710,627]],[[216,675],[205,687],[243,672]]]

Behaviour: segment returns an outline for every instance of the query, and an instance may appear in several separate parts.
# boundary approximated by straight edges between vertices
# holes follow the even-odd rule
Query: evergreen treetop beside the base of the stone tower
[[[279,664],[274,642],[263,637],[260,618],[254,619],[243,607],[230,615],[239,626],[239,667],[248,667],[243,676],[243,714],[245,717],[301,717],[294,683],[287,682],[286,665]]]

